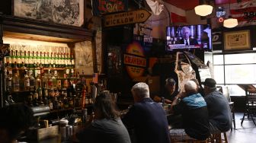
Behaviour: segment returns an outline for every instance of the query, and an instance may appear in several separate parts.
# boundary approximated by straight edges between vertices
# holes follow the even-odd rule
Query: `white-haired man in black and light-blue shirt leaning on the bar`
[[[171,138],[195,138],[205,140],[210,136],[209,120],[206,102],[197,93],[197,84],[194,81],[187,81],[184,85],[186,93],[179,94],[171,104],[171,111],[174,114],[181,113],[184,129],[171,129]],[[182,99],[180,99],[180,97]],[[178,100],[181,100],[178,103]]]

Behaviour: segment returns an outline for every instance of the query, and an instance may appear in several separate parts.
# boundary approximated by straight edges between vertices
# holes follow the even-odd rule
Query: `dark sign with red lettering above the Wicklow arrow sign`
[[[91,2],[94,16],[128,10],[127,0],[92,0]]]

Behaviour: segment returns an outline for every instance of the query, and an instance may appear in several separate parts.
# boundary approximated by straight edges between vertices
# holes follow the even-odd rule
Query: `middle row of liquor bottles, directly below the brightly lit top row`
[[[34,76],[35,75],[35,76]],[[66,69],[63,76],[59,76],[58,71],[41,73],[41,70],[12,70],[5,68],[5,89],[13,92],[36,91],[39,88],[62,89],[75,84],[79,74],[74,74],[73,69]]]

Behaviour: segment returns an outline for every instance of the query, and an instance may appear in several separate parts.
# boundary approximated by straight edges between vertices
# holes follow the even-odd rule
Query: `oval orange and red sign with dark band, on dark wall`
[[[143,75],[146,68],[146,58],[142,46],[139,43],[131,43],[126,48],[123,61],[130,78],[137,78]]]

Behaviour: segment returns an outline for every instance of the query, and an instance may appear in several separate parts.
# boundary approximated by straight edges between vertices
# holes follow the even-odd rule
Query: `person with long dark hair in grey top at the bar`
[[[130,136],[114,101],[107,93],[101,93],[94,103],[94,121],[78,132],[78,140],[86,143],[130,143]]]

